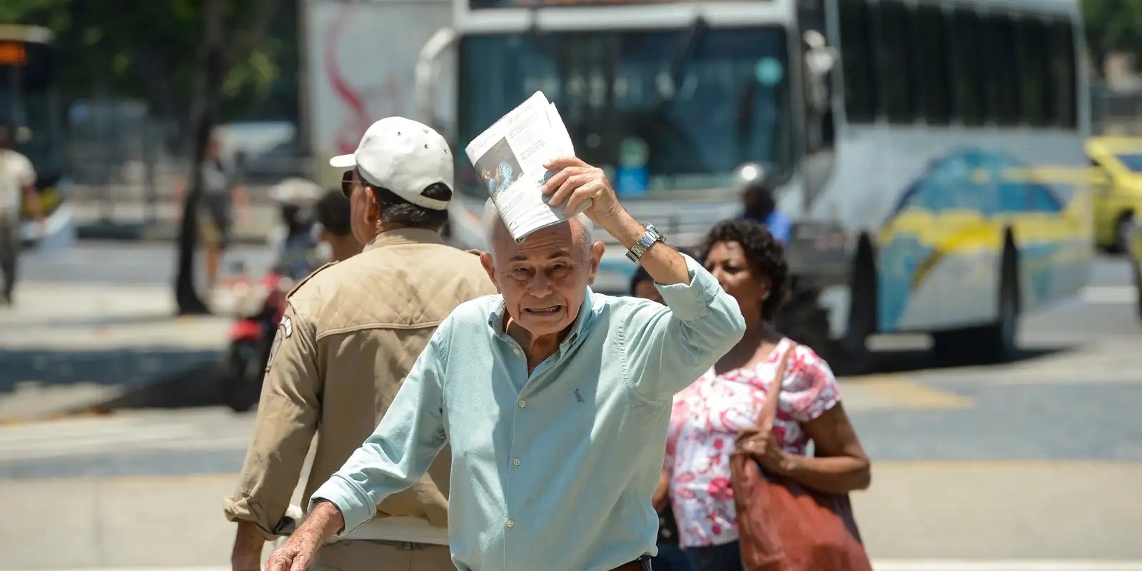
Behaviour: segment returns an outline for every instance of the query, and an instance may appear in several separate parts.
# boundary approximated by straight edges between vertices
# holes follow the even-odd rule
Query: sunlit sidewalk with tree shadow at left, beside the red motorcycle
[[[81,411],[148,385],[201,378],[232,317],[176,317],[167,284],[30,282],[0,307],[0,423]]]

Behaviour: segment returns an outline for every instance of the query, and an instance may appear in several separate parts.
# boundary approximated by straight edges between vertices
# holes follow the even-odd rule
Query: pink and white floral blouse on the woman
[[[713,369],[674,397],[666,441],[666,469],[682,547],[729,544],[738,539],[730,453],[734,437],[751,427],[765,402],[778,362],[793,341],[782,339],[770,357],[753,369],[715,375]],[[809,435],[802,428],[833,408],[841,395],[821,357],[804,345],[789,356],[782,379],[774,434],[787,452],[803,455]]]

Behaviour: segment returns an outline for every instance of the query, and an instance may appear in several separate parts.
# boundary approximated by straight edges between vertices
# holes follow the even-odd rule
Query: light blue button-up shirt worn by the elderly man
[[[500,296],[437,328],[377,431],[316,492],[352,531],[451,444],[449,542],[461,570],[609,570],[656,553],[651,494],[671,396],[745,333],[692,258],[668,307],[587,291],[558,352],[528,373]]]

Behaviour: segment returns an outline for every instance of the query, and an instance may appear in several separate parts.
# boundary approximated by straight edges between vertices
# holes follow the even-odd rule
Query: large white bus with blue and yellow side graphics
[[[1021,313],[1086,281],[1083,187],[1011,176],[1085,166],[1077,0],[459,0],[452,22],[418,82],[457,147],[542,90],[684,247],[740,216],[739,169],[779,180],[785,324],[819,351],[909,331],[1006,359]],[[451,238],[478,248],[486,191],[457,174]],[[622,291],[633,267],[612,243],[602,270]]]

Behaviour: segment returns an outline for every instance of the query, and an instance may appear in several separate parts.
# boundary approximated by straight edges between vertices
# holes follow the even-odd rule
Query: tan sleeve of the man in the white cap
[[[317,429],[323,383],[315,335],[290,305],[271,348],[238,490],[224,502],[226,518],[252,522],[267,539],[286,514]]]

